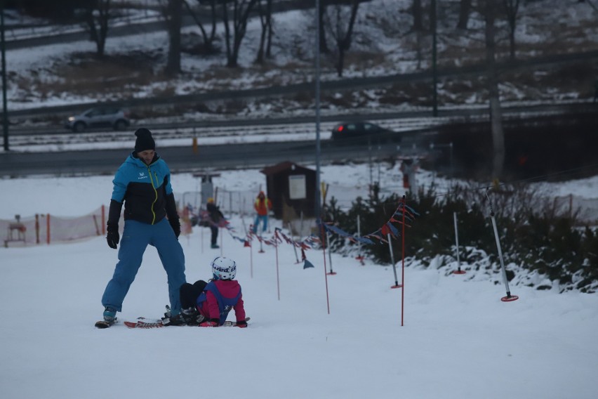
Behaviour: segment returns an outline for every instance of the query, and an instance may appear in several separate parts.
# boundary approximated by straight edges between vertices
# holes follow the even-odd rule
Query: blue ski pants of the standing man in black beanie
[[[186,282],[185,254],[166,218],[154,225],[125,221],[119,248],[119,262],[102,296],[102,305],[122,310],[124,298],[141,266],[147,245],[156,247],[168,276],[168,296],[173,315],[180,313],[179,289]]]

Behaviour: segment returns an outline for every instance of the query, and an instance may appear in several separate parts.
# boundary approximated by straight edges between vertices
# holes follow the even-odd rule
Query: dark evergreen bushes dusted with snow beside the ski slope
[[[357,233],[357,217],[361,221],[361,236],[376,232],[390,221],[402,198],[397,195],[380,197],[374,186],[368,199],[358,197],[347,212],[341,211],[334,198],[324,207],[324,221],[334,223],[347,233]],[[490,202],[489,202],[490,200]],[[423,264],[430,259],[455,253],[453,214],[457,214],[460,248],[479,249],[498,263],[496,238],[491,211],[503,249],[505,263],[515,263],[529,272],[536,271],[565,289],[591,291],[598,282],[598,234],[595,228],[579,228],[575,214],[562,214],[554,206],[525,186],[475,188],[456,185],[449,192],[438,193],[434,186],[418,195],[406,197],[408,207],[418,212],[414,221],[406,221],[405,256]],[[401,221],[401,215],[395,216]],[[400,223],[393,223],[401,230]],[[354,242],[331,235],[333,251],[349,253]],[[384,237],[386,238],[386,237]],[[402,241],[392,240],[394,259],[401,257]],[[390,263],[388,244],[373,240],[363,245],[362,253],[381,264]],[[461,261],[477,261],[478,251],[462,250]],[[472,256],[475,259],[468,259]],[[509,280],[514,277],[507,270]]]

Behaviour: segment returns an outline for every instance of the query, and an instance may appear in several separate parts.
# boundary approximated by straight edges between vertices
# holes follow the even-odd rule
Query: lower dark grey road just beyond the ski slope
[[[411,148],[411,145],[409,145]],[[31,175],[82,176],[89,174],[114,174],[130,151],[90,150],[66,152],[8,152],[0,155],[0,176],[20,177]],[[211,168],[242,169],[271,166],[291,161],[298,164],[315,164],[316,145],[313,141],[285,141],[279,143],[221,144],[157,148],[173,172],[201,171]],[[390,157],[398,154],[397,145],[333,145],[321,143],[321,162],[330,163],[369,157]]]

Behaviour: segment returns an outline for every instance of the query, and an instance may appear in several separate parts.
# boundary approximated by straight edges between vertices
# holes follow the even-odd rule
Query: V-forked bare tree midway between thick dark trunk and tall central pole
[[[258,0],[222,0],[227,67],[237,67],[238,65],[239,49],[247,32],[249,14],[257,3]],[[232,21],[229,18],[229,4],[232,5]]]

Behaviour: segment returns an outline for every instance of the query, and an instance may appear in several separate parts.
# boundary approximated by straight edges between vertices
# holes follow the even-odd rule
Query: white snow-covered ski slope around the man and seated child
[[[331,166],[323,179],[342,185],[367,174],[366,167]],[[226,172],[218,184],[255,190],[263,178],[258,171]],[[13,212],[84,214],[107,201],[111,179],[1,180],[0,218]],[[387,190],[400,192],[399,181]],[[569,188],[582,195],[595,188],[592,184],[580,181]],[[197,179],[174,176],[173,185],[181,192],[194,190]],[[249,216],[244,222],[251,223]],[[360,266],[337,254],[331,264],[328,254],[310,249],[306,256],[314,268],[304,269],[290,245],[266,246],[260,254],[258,246],[234,240],[233,235],[244,235],[239,216],[232,226],[233,234],[222,233],[222,249],[208,249],[208,232],[199,228],[180,242],[189,281],[210,277],[215,256],[237,261],[252,319],[247,329],[143,330],[118,324],[98,330],[93,323],[101,316],[100,298],[117,261],[104,237],[0,248],[2,397],[598,395],[595,294],[515,285],[511,290],[519,300],[504,303],[504,287],[474,278],[467,265],[465,275],[448,274],[455,263],[441,270],[406,263],[401,291],[390,288],[390,266],[367,260]],[[336,275],[326,275],[331,267]],[[400,276],[400,260],[397,268]],[[167,301],[166,274],[148,247],[119,319],[158,318]]]

